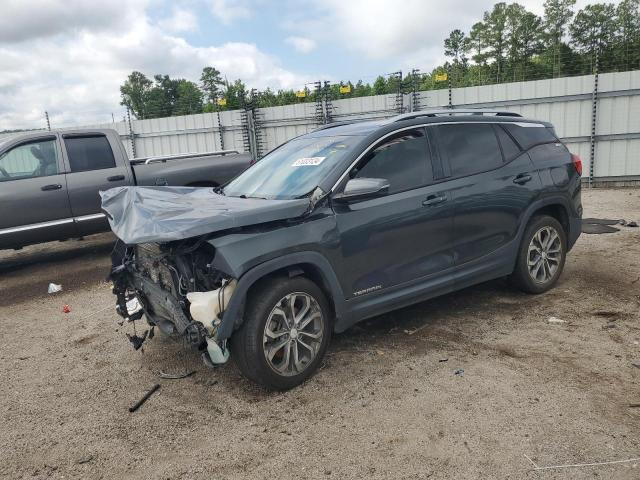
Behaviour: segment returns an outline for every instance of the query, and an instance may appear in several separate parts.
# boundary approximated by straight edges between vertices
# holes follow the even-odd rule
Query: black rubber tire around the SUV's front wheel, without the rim
[[[309,295],[317,302],[322,314],[322,340],[315,357],[300,373],[283,375],[272,368],[266,358],[265,326],[272,310],[292,293]],[[260,282],[247,298],[244,318],[242,326],[230,339],[231,357],[246,378],[270,390],[288,390],[313,375],[329,346],[333,328],[333,312],[325,295],[315,283],[302,276],[273,277]],[[288,338],[291,336],[288,335]]]

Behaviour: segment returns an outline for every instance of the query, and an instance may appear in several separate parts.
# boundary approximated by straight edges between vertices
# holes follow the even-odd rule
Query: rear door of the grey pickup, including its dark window
[[[109,138],[104,133],[64,134],[62,138],[69,165],[69,200],[77,229],[81,235],[108,230],[107,219],[100,211],[98,192],[129,185],[128,162],[121,159],[121,165],[116,163]]]

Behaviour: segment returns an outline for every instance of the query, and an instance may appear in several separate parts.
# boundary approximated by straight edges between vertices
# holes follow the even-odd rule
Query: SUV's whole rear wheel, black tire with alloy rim
[[[555,218],[533,217],[522,236],[512,283],[527,293],[543,293],[552,288],[564,269],[567,236]]]

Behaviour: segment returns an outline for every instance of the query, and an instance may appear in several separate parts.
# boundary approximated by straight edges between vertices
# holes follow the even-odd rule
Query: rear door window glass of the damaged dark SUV
[[[452,177],[486,172],[503,164],[498,139],[488,123],[439,125],[440,151]]]

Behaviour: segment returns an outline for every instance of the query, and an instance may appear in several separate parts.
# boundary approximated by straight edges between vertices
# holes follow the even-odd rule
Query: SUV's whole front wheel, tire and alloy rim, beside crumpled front
[[[231,355],[248,379],[287,390],[318,368],[331,324],[327,300],[311,280],[270,279],[250,294],[245,321],[231,338]]]

